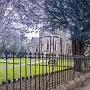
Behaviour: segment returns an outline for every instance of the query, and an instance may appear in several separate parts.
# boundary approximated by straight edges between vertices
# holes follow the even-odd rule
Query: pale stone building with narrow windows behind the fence
[[[61,35],[53,35],[48,31],[40,32],[39,37],[32,37],[31,39],[31,52],[71,55],[71,41],[66,37],[66,33],[64,32]]]

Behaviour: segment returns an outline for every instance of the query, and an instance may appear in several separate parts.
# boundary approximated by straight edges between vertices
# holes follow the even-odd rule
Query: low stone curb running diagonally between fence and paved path
[[[79,87],[84,84],[84,81],[90,78],[90,73],[81,75],[80,77],[75,78],[72,81],[69,81],[63,85],[57,86],[51,90],[74,90],[76,87]]]

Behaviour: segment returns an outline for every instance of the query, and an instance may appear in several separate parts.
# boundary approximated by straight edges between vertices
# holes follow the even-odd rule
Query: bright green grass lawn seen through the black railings
[[[46,66],[46,62],[41,62],[39,60],[32,60],[32,62],[41,62],[40,65],[32,65],[30,67],[30,60],[26,60],[27,62],[27,66],[22,66],[22,77],[29,77],[29,76],[34,76],[34,75],[39,75],[39,74],[45,74],[45,73],[51,73],[52,72],[52,65],[48,65]],[[0,62],[3,62],[2,60],[0,60]],[[4,62],[6,62],[4,60]],[[13,66],[13,60],[8,60],[8,63],[12,63],[12,64],[8,64],[8,66]],[[14,63],[19,63],[19,64],[15,64],[14,66],[20,65],[20,60],[19,59],[15,59]],[[22,59],[21,61],[22,64],[25,64],[25,59]],[[65,69],[70,68],[71,66],[73,66],[73,62],[64,60],[64,61],[59,61],[58,64],[55,66],[54,71],[62,71]],[[5,63],[0,63],[0,68],[5,67]],[[69,66],[69,67],[67,67]],[[31,72],[31,73],[30,73]],[[26,74],[27,73],[27,74]],[[20,78],[20,66],[15,67],[14,68],[14,78],[18,79]],[[13,68],[8,68],[8,79],[13,80]],[[6,81],[6,70],[0,70],[0,83],[2,81]]]

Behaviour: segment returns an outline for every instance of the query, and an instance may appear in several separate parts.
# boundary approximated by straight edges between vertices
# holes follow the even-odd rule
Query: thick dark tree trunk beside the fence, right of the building
[[[72,54],[74,57],[74,70],[82,70],[82,56],[84,55],[84,41],[73,40],[72,41]],[[77,56],[77,57],[76,57]]]

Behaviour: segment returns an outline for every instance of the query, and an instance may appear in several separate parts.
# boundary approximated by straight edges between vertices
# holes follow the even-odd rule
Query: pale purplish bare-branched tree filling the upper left
[[[42,15],[43,10],[37,0],[0,0],[2,51],[7,47],[13,47],[17,41],[22,46],[24,40],[27,39],[28,28],[38,28],[43,21]]]

